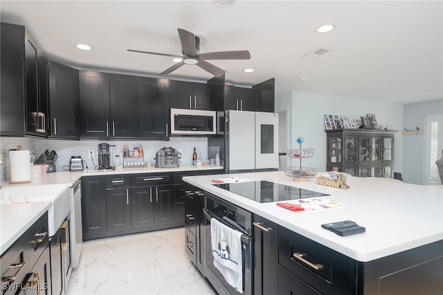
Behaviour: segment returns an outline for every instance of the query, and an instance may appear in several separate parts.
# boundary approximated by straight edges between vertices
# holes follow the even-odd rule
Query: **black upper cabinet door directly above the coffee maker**
[[[80,71],[80,136],[109,136],[109,74]]]

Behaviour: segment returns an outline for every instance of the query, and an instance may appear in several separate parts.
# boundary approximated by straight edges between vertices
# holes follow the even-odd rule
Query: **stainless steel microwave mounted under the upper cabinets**
[[[216,118],[216,111],[171,109],[171,135],[216,134]]]

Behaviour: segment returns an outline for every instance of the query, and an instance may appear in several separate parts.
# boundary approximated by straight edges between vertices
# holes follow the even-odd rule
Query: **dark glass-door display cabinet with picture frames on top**
[[[333,129],[327,133],[327,171],[356,177],[394,175],[394,132],[372,129]]]

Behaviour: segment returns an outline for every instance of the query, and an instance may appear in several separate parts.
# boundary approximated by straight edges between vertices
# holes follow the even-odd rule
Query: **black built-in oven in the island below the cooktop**
[[[230,204],[215,195],[204,193],[204,233],[206,235],[205,276],[219,294],[240,294],[228,284],[223,274],[214,266],[211,247],[210,221],[215,218],[219,222],[242,233],[243,271],[242,294],[253,294],[253,215],[251,212]]]

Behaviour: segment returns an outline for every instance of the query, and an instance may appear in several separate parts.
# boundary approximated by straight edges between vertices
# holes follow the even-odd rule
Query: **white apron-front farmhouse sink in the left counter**
[[[71,210],[69,188],[67,184],[6,187],[0,190],[0,205],[26,206],[26,203],[50,202],[48,234],[52,237]]]

